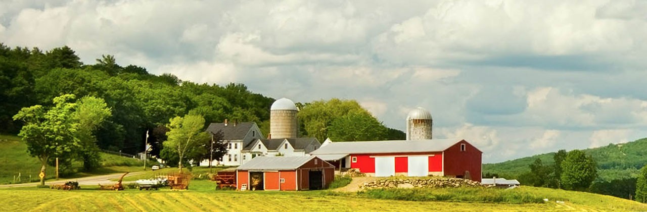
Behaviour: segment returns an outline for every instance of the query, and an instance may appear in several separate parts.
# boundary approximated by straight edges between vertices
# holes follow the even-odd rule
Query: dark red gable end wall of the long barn
[[[465,151],[461,152],[461,143]],[[463,176],[470,172],[472,180],[481,182],[481,151],[465,140],[458,142],[444,151],[444,175]]]

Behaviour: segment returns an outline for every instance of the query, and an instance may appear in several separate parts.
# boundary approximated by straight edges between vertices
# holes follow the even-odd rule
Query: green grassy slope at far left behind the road
[[[76,178],[82,176],[102,175],[124,171],[141,171],[143,163],[133,158],[125,158],[112,154],[100,154],[102,167],[92,173],[74,173],[61,178]],[[27,182],[31,175],[32,182],[38,181],[41,164],[37,158],[29,156],[27,145],[16,136],[0,135],[0,184],[14,183],[14,176],[21,175],[21,181]],[[81,164],[74,164],[80,167]],[[56,178],[54,167],[47,167],[47,179]]]

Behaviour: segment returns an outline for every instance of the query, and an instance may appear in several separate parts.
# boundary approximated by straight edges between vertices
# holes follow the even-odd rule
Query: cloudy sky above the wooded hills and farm
[[[0,42],[360,101],[485,162],[647,137],[647,1],[0,1]]]

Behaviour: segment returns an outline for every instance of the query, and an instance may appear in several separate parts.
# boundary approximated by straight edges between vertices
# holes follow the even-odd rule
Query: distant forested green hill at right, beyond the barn
[[[637,174],[638,169],[647,164],[647,138],[582,151],[593,156],[597,162],[600,170],[598,180],[610,181],[632,177]],[[501,177],[516,178],[530,171],[528,165],[537,158],[542,159],[543,164],[553,164],[554,154],[545,153],[497,164],[483,164],[483,174],[496,173]]]

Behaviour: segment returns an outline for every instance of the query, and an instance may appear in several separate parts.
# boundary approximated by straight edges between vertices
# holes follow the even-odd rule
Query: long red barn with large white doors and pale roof
[[[452,176],[481,182],[481,154],[465,140],[324,142],[311,154],[368,176]]]

